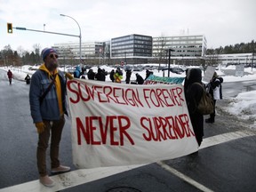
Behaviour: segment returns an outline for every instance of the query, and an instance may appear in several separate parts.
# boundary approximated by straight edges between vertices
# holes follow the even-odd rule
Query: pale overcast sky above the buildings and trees
[[[117,36],[204,35],[207,48],[256,40],[255,0],[0,0],[0,50],[10,44],[31,51],[56,43],[79,42],[78,37],[13,29],[13,27],[79,35],[82,41]],[[45,26],[44,26],[45,25]]]

